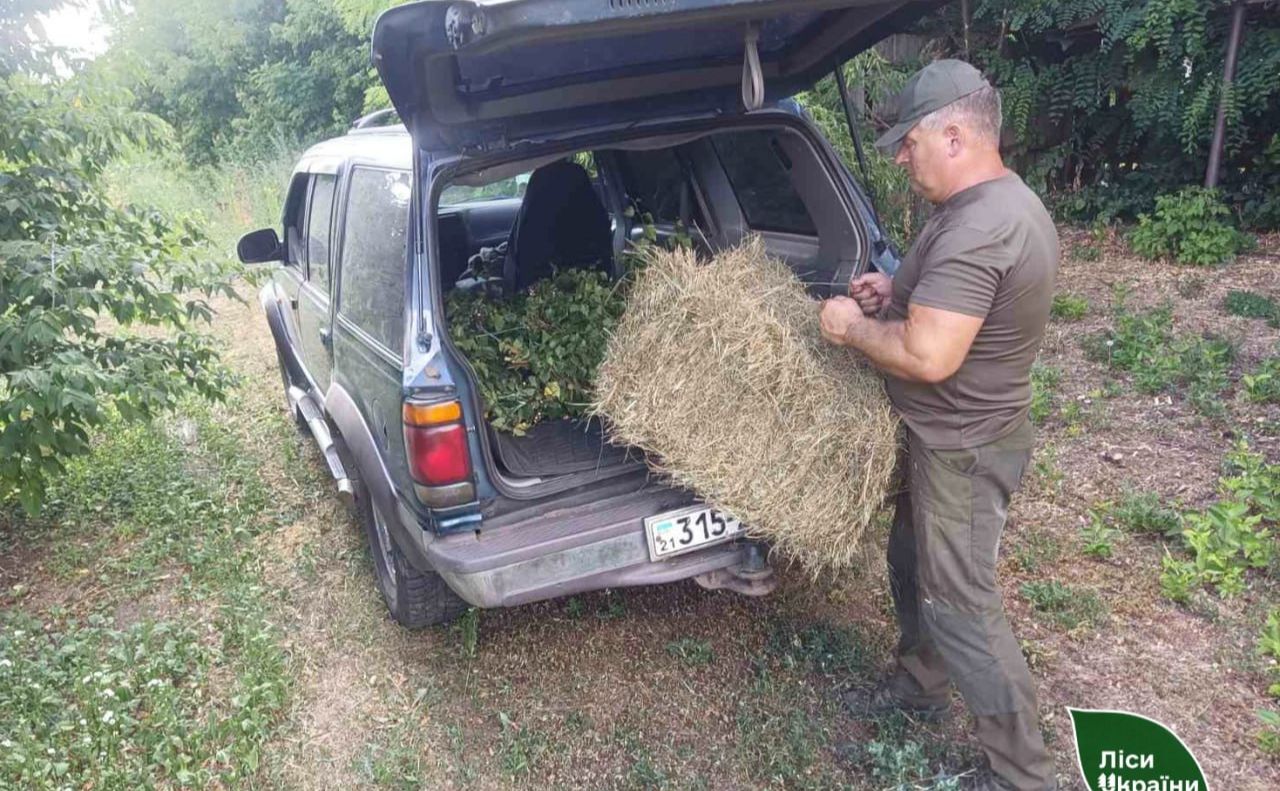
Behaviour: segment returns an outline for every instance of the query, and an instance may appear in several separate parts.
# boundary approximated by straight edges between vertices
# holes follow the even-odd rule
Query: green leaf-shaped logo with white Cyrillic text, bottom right
[[[1129,712],[1066,710],[1089,791],[1208,791],[1199,762],[1155,719]]]

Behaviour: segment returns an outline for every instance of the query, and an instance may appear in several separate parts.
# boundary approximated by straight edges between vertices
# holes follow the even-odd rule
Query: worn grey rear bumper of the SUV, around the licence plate
[[[424,549],[431,568],[476,607],[511,607],[690,577],[709,587],[726,586],[716,582],[724,577],[721,570],[749,563],[746,541],[649,559],[644,518],[690,502],[686,493],[654,488],[485,526],[480,532],[436,536]]]

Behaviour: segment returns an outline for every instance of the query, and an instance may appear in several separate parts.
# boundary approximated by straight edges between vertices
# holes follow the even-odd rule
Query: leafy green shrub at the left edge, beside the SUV
[[[228,384],[197,330],[236,269],[191,220],[108,198],[104,165],[163,141],[122,104],[90,78],[0,73],[0,502],[31,512],[109,412]]]

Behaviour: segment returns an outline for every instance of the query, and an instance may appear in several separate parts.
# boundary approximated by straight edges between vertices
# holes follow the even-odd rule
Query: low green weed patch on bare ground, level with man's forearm
[[[1087,338],[1091,360],[1126,371],[1139,393],[1185,390],[1201,413],[1221,416],[1219,396],[1230,385],[1228,374],[1235,346],[1225,338],[1176,334],[1172,307],[1116,310],[1115,326]]]

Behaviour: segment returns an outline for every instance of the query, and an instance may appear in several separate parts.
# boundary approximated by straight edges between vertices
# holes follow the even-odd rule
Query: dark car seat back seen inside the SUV
[[[609,212],[577,163],[558,160],[534,170],[511,228],[503,282],[508,294],[561,269],[604,269],[613,262]]]

